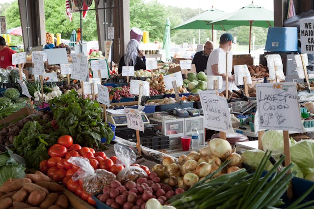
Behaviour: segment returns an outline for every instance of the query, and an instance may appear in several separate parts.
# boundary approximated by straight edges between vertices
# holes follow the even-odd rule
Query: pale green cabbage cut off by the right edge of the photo
[[[314,167],[314,140],[306,139],[297,142],[290,148],[291,159],[301,169]]]

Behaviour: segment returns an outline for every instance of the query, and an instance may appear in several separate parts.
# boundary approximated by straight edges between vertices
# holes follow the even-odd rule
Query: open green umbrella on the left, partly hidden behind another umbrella
[[[213,41],[213,30],[229,30],[236,25],[223,25],[215,24],[210,25],[210,22],[228,14],[227,12],[210,8],[209,10],[194,16],[193,18],[185,21],[184,23],[172,28],[172,30],[178,29],[211,29],[211,39]]]

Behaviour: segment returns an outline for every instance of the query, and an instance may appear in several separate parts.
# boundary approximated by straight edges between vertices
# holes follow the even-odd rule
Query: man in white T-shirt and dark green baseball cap
[[[208,58],[207,61],[207,75],[221,75],[223,78],[223,85],[220,92],[226,90],[226,73],[219,74],[218,72],[218,60],[219,60],[219,53],[224,51],[230,51],[232,48],[234,40],[230,33],[224,33],[220,36],[219,39],[219,47],[213,50]],[[231,73],[228,75],[228,90],[238,90],[235,86],[235,75]]]

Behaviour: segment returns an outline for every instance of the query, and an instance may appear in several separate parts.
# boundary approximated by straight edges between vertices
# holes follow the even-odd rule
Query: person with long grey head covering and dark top
[[[134,66],[134,70],[146,70],[145,55],[138,47],[138,41],[131,39],[127,46],[127,52],[120,59],[118,73],[122,73],[123,66]]]

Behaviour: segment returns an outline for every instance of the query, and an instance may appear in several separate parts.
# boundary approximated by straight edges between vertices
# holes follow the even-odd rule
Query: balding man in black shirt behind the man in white
[[[204,72],[206,70],[208,57],[213,48],[212,42],[207,41],[204,45],[204,50],[195,53],[192,64],[195,64],[196,72]]]

